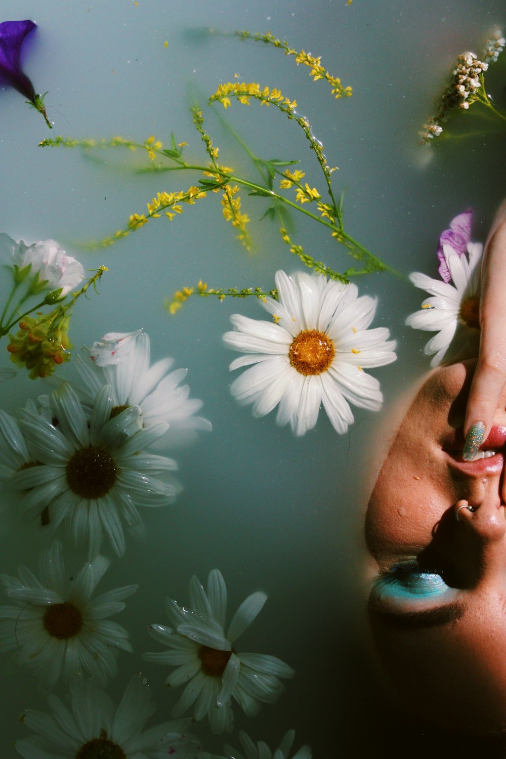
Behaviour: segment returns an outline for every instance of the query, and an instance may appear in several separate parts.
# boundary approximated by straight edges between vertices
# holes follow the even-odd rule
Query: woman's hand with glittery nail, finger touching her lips
[[[479,307],[481,339],[464,420],[464,458],[486,440],[506,385],[506,200],[499,207],[486,241]]]

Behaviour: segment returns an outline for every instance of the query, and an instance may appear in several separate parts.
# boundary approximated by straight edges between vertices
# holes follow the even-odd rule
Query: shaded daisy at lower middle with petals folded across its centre
[[[294,670],[264,653],[237,653],[234,641],[250,626],[266,603],[257,591],[240,604],[225,635],[227,587],[218,569],[209,572],[207,593],[198,579],[190,580],[190,607],[165,599],[165,610],[174,629],[151,625],[156,641],[168,646],[162,653],[145,653],[149,661],[178,666],[165,685],[187,683],[172,716],[180,716],[193,705],[193,720],[207,715],[212,732],[220,735],[234,725],[231,699],[248,716],[258,713],[260,703],[273,704],[284,691],[280,678],[291,678]]]

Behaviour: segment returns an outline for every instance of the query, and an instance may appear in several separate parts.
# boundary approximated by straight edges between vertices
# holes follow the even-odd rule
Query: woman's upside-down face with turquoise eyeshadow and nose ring
[[[379,472],[366,516],[369,619],[413,712],[489,730],[506,727],[506,392],[480,458],[464,461],[475,364],[429,376]],[[472,510],[457,521],[460,505]]]

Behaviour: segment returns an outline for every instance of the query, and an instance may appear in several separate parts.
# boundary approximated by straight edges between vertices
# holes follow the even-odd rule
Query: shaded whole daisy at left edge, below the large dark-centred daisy
[[[37,578],[27,567],[18,576],[0,575],[5,594],[17,606],[0,606],[0,651],[17,651],[17,663],[35,670],[52,688],[63,676],[89,672],[101,685],[117,673],[118,649],[132,650],[127,631],[105,621],[124,609],[124,598],[138,585],[117,587],[92,598],[108,559],[96,556],[68,581],[61,543],[44,551]]]

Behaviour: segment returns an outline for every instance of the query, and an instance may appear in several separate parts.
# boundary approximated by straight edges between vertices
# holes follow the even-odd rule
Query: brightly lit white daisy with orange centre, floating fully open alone
[[[231,393],[240,404],[253,403],[255,417],[279,405],[277,423],[289,423],[299,436],[313,429],[323,404],[336,432],[345,433],[354,420],[350,403],[372,411],[382,405],[378,380],[364,370],[396,359],[388,329],[367,329],[376,300],[321,274],[297,272],[292,279],[279,271],[275,282],[279,301],[262,301],[275,323],[236,313],[236,331],[223,335],[246,354],[231,370],[255,364],[234,380]]]

